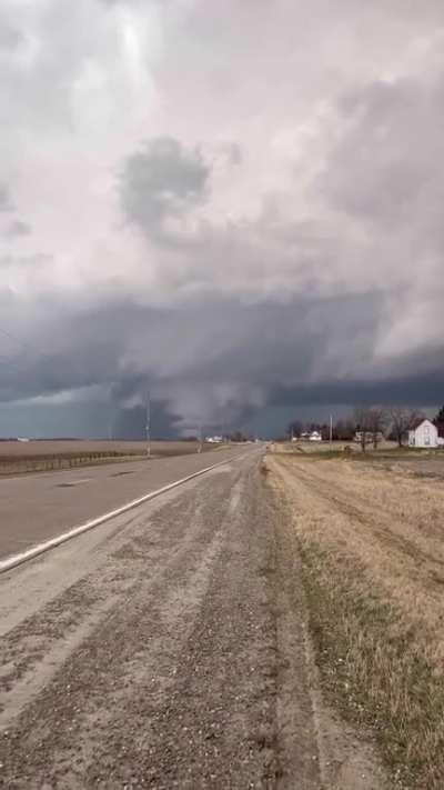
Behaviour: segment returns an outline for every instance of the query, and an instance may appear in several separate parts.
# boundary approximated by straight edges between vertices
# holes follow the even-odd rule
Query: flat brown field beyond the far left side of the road
[[[203,444],[203,450],[218,446]],[[195,441],[152,441],[153,458],[185,456],[198,451]],[[69,469],[147,456],[144,441],[0,441],[0,474]]]

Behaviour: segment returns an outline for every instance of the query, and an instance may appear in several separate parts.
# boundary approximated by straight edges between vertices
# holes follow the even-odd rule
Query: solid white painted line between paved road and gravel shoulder
[[[11,557],[7,557],[6,560],[0,560],[0,573],[4,573],[6,571],[12,570],[12,568],[17,568],[17,566],[21,566],[23,562],[32,560],[34,559],[34,557],[39,557],[39,554],[43,554],[46,551],[54,549],[61,543],[65,543],[67,540],[71,540],[71,538],[75,538],[78,534],[82,534],[82,532],[87,532],[88,530],[93,529],[94,527],[99,527],[99,524],[102,524],[105,521],[110,521],[117,516],[125,513],[128,510],[138,508],[139,504],[143,504],[143,502],[148,502],[150,499],[154,499],[154,497],[159,497],[161,493],[171,491],[171,489],[176,488],[178,486],[182,486],[189,480],[199,478],[201,474],[205,474],[212,469],[223,467],[225,463],[231,463],[232,461],[239,461],[246,454],[248,453],[242,453],[242,456],[226,459],[226,461],[219,461],[218,463],[212,463],[211,467],[205,467],[204,469],[200,469],[199,472],[193,472],[192,474],[188,474],[185,478],[174,480],[174,482],[169,483],[168,486],[158,488],[155,491],[151,491],[151,493],[147,493],[143,497],[139,497],[139,499],[133,499],[131,502],[122,504],[121,508],[110,510],[108,513],[103,513],[103,516],[99,516],[97,519],[91,519],[90,521],[87,521],[85,523],[80,524],[79,527],[73,527],[68,532],[62,532],[62,534],[58,534],[56,538],[51,538],[51,540],[44,541],[44,543],[38,543],[38,546],[33,546],[31,549],[28,549],[27,551],[23,551],[20,554],[12,554]]]

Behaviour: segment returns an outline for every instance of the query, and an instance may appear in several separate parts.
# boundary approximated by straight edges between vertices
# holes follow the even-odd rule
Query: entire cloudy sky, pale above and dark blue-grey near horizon
[[[0,97],[0,434],[444,401],[442,0],[2,0]]]

